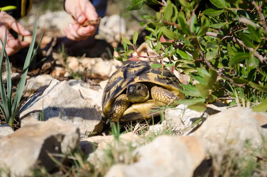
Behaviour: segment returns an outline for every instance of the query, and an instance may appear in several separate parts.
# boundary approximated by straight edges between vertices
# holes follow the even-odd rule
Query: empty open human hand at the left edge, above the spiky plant
[[[4,43],[5,39],[5,30],[7,28],[7,42],[6,42],[6,52],[7,55],[13,55],[14,53],[17,53],[21,48],[25,48],[30,43],[25,41],[20,41],[19,39],[15,39],[12,34],[9,32],[10,29],[13,29],[15,32],[22,36],[29,36],[31,33],[27,31],[24,26],[22,26],[20,23],[18,23],[12,16],[7,14],[4,11],[0,12],[0,38],[2,42]],[[2,45],[0,45],[0,53],[2,50]]]

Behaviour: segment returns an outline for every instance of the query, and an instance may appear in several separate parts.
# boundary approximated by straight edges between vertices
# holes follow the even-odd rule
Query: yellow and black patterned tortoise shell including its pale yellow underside
[[[179,91],[179,89],[182,89],[179,79],[167,68],[163,68],[162,77],[162,68],[151,68],[152,64],[160,63],[156,61],[131,61],[130,63],[117,69],[111,75],[104,88],[104,94],[102,97],[102,110],[104,117],[108,117],[109,110],[111,109],[115,99],[121,93],[126,93],[128,84],[132,83],[144,83],[148,86],[149,91],[153,84],[157,84],[158,86],[162,86],[163,88],[172,91],[179,97],[179,99],[185,99],[185,94]],[[150,110],[153,105],[163,106],[166,104],[152,100],[150,94],[150,99],[146,102],[134,103],[125,110],[120,118],[120,121],[132,121],[152,117],[152,115],[150,115]]]

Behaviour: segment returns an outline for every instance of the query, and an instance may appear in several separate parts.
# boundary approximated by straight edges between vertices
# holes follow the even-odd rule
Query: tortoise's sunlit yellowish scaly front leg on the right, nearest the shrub
[[[175,101],[178,101],[179,98],[171,91],[161,88],[161,87],[157,87],[157,86],[152,87],[151,97],[152,99],[159,101],[159,102],[163,102],[165,104],[170,103],[170,105],[178,105],[177,103],[175,103]]]

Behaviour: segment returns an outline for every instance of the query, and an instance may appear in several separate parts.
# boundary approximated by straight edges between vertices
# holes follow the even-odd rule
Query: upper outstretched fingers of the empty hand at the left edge
[[[22,36],[29,36],[31,33],[27,31],[24,26],[22,26],[20,23],[18,23],[15,18],[13,18],[11,15],[7,14],[4,11],[0,12],[0,18],[2,23],[6,23],[9,28],[13,29],[15,32]]]

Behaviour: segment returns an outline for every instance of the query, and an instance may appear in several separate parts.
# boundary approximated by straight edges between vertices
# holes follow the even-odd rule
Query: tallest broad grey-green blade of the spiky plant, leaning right
[[[17,92],[16,92],[15,99],[14,99],[14,102],[13,102],[13,105],[12,105],[12,110],[14,112],[18,108],[20,99],[21,99],[22,94],[23,94],[24,86],[25,86],[25,83],[26,83],[26,76],[27,76],[27,73],[28,73],[28,68],[29,68],[30,63],[31,63],[32,53],[33,53],[33,49],[34,49],[34,42],[35,42],[35,38],[36,38],[36,30],[37,30],[37,18],[35,19],[34,33],[33,33],[33,37],[32,37],[32,40],[31,40],[31,45],[29,47],[29,50],[28,50],[28,53],[27,53],[27,56],[26,56],[26,60],[25,60],[25,63],[24,63],[23,74],[22,74],[22,77],[21,77],[20,82],[18,84]]]

